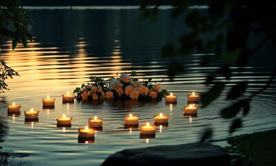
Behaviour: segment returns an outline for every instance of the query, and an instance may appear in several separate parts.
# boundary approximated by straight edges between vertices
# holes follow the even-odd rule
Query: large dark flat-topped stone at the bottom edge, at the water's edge
[[[161,145],[117,151],[101,164],[101,166],[106,165],[228,166],[230,165],[230,155],[221,147],[209,143]]]

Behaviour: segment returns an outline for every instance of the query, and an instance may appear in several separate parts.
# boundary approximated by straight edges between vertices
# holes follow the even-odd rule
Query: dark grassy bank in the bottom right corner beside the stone
[[[241,154],[231,155],[233,165],[274,166],[276,165],[275,140],[276,129],[246,133],[227,138],[230,146],[226,146],[225,149],[229,154]]]

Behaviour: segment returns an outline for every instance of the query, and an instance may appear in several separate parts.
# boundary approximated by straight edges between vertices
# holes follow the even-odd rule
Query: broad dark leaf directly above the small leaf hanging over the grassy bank
[[[242,107],[244,107],[244,104],[245,100],[235,102],[234,104],[231,104],[229,107],[222,109],[220,115],[226,119],[233,118],[237,115],[237,113],[239,113],[239,110],[242,109]]]

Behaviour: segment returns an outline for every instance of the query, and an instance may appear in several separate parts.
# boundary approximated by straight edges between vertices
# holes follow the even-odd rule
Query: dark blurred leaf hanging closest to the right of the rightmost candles
[[[223,89],[224,89],[224,83],[216,82],[215,85],[208,92],[203,93],[201,95],[202,107],[208,106],[210,102],[213,102],[213,100],[218,98]]]

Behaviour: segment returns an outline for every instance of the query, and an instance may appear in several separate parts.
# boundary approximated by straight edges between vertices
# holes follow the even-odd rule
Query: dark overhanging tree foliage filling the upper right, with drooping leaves
[[[207,107],[219,95],[226,91],[226,100],[232,102],[230,106],[221,110],[222,118],[233,118],[229,133],[233,133],[242,127],[242,117],[250,111],[250,101],[253,97],[262,93],[273,83],[276,66],[271,71],[270,79],[262,89],[244,95],[250,82],[235,82],[227,91],[226,84],[231,80],[233,73],[243,72],[250,58],[262,53],[273,55],[276,45],[275,3],[269,1],[197,1],[197,5],[206,6],[206,13],[200,12],[199,6],[193,6],[189,0],[143,0],[141,2],[139,20],[148,19],[150,22],[158,19],[157,13],[161,5],[172,6],[170,17],[183,17],[184,24],[188,27],[188,33],[179,36],[178,41],[164,46],[161,57],[188,56],[193,53],[202,53],[199,67],[208,66],[212,62],[220,62],[221,67],[206,76],[206,85],[211,86],[209,91],[201,95],[201,106]],[[204,35],[212,35],[210,39],[203,39]],[[254,39],[257,44],[249,46],[249,40]],[[270,45],[267,47],[267,45]],[[170,66],[177,66],[172,68]],[[179,72],[185,73],[182,64],[172,62],[168,67],[168,75],[171,80]],[[181,69],[181,70],[179,70]],[[223,79],[221,79],[223,77]],[[248,92],[247,92],[248,93]],[[243,111],[242,117],[237,117],[239,111]],[[208,129],[201,138],[206,140],[212,131]]]

